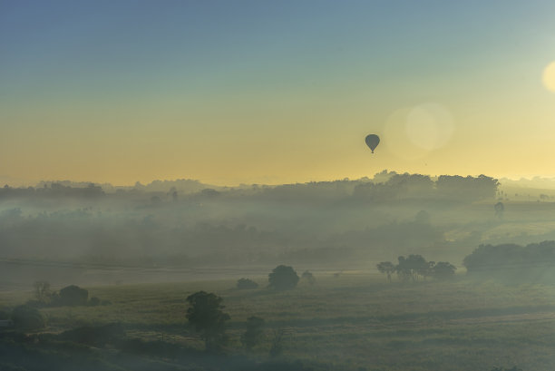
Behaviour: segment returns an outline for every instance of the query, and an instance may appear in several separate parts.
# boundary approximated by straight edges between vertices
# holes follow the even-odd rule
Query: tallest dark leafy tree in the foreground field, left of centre
[[[226,321],[229,314],[222,311],[222,298],[205,291],[198,291],[187,297],[190,307],[187,319],[195,331],[202,334],[206,349],[217,350],[226,340]]]

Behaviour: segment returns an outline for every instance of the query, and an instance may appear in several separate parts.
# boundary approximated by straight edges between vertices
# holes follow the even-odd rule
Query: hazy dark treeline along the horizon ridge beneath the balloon
[[[122,197],[139,193],[156,193],[158,197],[175,200],[180,195],[200,197],[252,196],[268,200],[315,200],[352,197],[357,200],[388,201],[410,198],[444,198],[446,200],[480,200],[494,197],[499,182],[491,177],[462,177],[396,173],[382,171],[373,180],[362,178],[350,181],[311,181],[307,183],[283,184],[277,186],[242,184],[238,187],[219,187],[202,184],[200,181],[152,181],[132,187],[114,187],[112,184],[76,183],[72,181],[41,181],[35,187],[14,188],[5,185],[0,189],[0,200],[28,197],[101,197],[115,193]]]

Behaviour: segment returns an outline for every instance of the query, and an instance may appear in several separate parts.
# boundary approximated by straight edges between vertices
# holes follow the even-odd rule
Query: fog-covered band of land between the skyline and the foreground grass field
[[[277,186],[190,180],[5,186],[2,281],[56,281],[56,275],[132,281],[145,271],[153,280],[174,280],[223,274],[222,268],[263,272],[277,263],[374,269],[377,261],[408,254],[461,268],[482,243],[555,239],[549,190],[520,190],[509,194],[484,175],[388,171]]]

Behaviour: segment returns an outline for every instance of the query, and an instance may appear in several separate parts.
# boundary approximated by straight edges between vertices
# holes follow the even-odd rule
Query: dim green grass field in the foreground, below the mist
[[[106,286],[90,297],[100,307],[45,308],[48,331],[121,322],[128,336],[203,347],[187,324],[185,298],[197,290],[224,298],[227,352],[245,353],[239,337],[249,316],[263,317],[267,339],[250,356],[268,356],[271,338],[285,333],[287,359],[345,370],[485,370],[555,368],[555,286],[505,286],[459,277],[450,282],[385,283],[384,278],[316,276],[296,289],[238,290],[234,280]],[[0,308],[31,298],[0,294]]]

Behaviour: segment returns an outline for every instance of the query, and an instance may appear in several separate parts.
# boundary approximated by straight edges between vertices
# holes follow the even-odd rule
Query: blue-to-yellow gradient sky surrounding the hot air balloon
[[[552,0],[0,0],[0,181],[555,176],[554,14]]]

